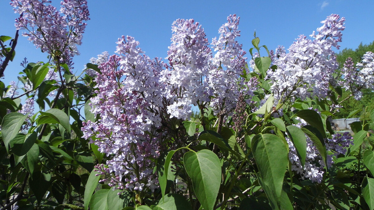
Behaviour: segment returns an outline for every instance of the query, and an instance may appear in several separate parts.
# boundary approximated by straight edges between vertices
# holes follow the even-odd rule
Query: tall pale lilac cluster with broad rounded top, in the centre
[[[177,19],[172,25],[172,44],[169,46],[169,65],[161,72],[160,82],[167,84],[164,94],[170,100],[170,118],[189,118],[192,105],[209,101],[207,83],[208,59],[211,49],[204,29],[193,19]]]

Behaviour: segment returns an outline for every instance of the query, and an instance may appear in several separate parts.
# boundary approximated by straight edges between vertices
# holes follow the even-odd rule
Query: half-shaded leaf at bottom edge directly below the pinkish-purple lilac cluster
[[[127,191],[125,191],[125,194],[120,194],[122,190],[115,189],[112,187],[108,191],[108,196],[107,196],[107,206],[108,209],[110,210],[121,210],[123,207],[126,207],[129,202],[131,201],[131,196]]]

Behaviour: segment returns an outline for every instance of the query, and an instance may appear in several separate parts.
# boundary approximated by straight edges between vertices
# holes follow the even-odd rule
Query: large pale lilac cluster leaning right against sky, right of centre
[[[288,53],[281,49],[275,53],[273,63],[277,69],[267,72],[275,105],[295,98],[327,96],[332,73],[338,68],[331,47],[339,49],[337,43],[341,41],[344,21],[344,18],[332,14],[321,22],[324,25],[317,32],[310,35],[314,40],[300,35],[288,48]]]

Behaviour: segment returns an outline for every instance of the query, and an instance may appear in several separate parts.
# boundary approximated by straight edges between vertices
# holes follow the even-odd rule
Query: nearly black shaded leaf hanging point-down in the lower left
[[[43,172],[35,172],[29,179],[30,188],[34,192],[38,203],[42,200],[47,189],[50,186],[50,174]]]

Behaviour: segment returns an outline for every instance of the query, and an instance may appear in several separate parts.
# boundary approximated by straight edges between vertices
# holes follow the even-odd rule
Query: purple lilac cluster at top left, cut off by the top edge
[[[60,63],[72,65],[71,58],[79,55],[77,45],[82,42],[89,11],[85,0],[61,1],[61,9],[46,5],[48,0],[12,0],[15,13],[22,14],[16,19],[16,29],[25,29],[22,35]]]

